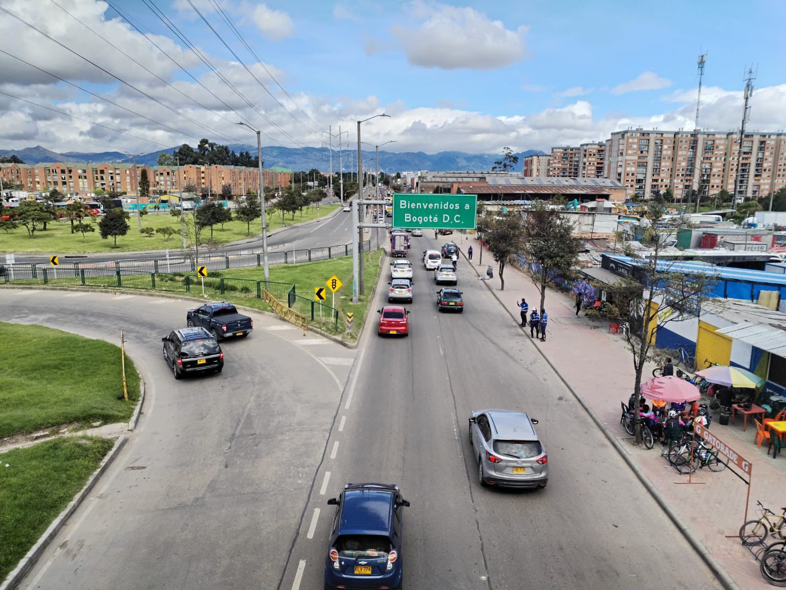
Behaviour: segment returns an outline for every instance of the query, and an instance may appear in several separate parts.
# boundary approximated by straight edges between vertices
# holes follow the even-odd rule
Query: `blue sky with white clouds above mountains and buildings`
[[[0,149],[337,146],[384,112],[362,140],[387,151],[548,151],[692,130],[700,53],[699,127],[739,128],[752,67],[747,127],[783,131],[784,22],[783,0],[0,0]]]

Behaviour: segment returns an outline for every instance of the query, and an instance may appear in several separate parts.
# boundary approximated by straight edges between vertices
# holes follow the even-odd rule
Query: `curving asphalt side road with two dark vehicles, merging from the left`
[[[21,588],[247,590],[281,577],[354,351],[252,315],[250,337],[222,343],[222,373],[176,382],[161,337],[192,306],[0,291],[4,321],[113,342],[123,327],[148,378],[138,430]]]

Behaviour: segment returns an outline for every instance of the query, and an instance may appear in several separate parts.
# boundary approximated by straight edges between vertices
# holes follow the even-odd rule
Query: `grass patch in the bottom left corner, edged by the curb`
[[[113,444],[104,438],[63,437],[0,455],[0,581],[68,506]]]

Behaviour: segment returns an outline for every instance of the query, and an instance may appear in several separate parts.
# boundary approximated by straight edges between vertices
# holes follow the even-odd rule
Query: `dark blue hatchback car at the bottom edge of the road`
[[[338,498],[325,559],[325,590],[402,587],[402,508],[397,485],[347,484]]]

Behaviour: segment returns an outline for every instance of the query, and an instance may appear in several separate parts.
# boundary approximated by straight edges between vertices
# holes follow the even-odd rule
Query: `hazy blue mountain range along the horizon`
[[[235,152],[248,150],[252,154],[256,153],[256,146],[236,145],[229,146]],[[172,153],[177,146],[170,149],[161,149],[156,152],[145,153],[137,156],[138,164],[154,165],[161,152]],[[523,165],[523,158],[532,154],[543,153],[538,149],[527,149],[523,152],[514,153],[519,157],[517,169]],[[29,147],[24,149],[0,149],[0,156],[10,157],[16,154],[25,164],[38,164],[39,162],[86,162],[89,164],[101,164],[104,162],[130,163],[133,157],[123,152],[64,152],[57,153],[42,146]],[[280,166],[281,168],[291,168],[292,170],[310,170],[318,168],[326,172],[329,171],[329,152],[323,148],[302,147],[287,148],[281,146],[265,146],[262,149],[265,168]],[[374,157],[374,150],[364,150],[363,159]],[[490,170],[494,162],[500,159],[499,154],[494,153],[465,153],[465,152],[386,152],[380,151],[380,170],[391,168],[394,171],[483,171]],[[357,152],[354,150],[344,150],[343,169],[351,171],[357,166]],[[366,161],[365,166],[369,166]],[[372,164],[373,167],[373,164]],[[333,170],[339,169],[339,156],[336,150],[333,151]]]

